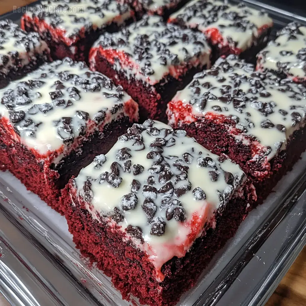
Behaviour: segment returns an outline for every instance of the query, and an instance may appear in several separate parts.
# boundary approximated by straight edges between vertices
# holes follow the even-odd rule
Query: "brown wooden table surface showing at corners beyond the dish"
[[[14,6],[25,6],[34,0],[0,0],[0,15],[12,11]],[[0,306],[2,306],[0,297]],[[266,306],[306,305],[306,247],[282,279]]]

